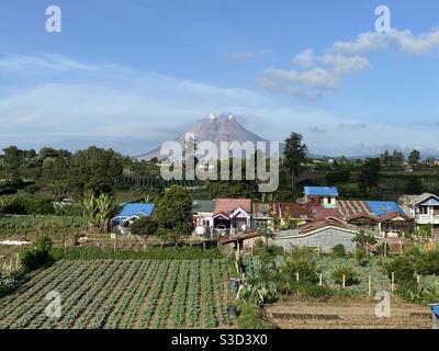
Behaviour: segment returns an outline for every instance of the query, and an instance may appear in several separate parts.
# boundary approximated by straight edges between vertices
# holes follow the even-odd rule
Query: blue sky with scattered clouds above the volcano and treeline
[[[47,5],[63,32],[45,31]],[[374,10],[392,32],[374,31]],[[128,155],[232,112],[311,151],[439,155],[437,1],[27,1],[0,4],[0,147]]]

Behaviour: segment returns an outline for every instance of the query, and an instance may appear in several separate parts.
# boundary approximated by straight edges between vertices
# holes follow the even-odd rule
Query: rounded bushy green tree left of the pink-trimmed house
[[[192,203],[191,193],[179,185],[172,185],[165,191],[157,202],[155,218],[160,234],[166,234],[173,241],[192,233]]]

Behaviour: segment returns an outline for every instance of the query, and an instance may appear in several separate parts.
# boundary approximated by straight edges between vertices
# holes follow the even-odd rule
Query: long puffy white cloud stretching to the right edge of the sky
[[[269,68],[258,81],[264,89],[316,99],[340,87],[345,76],[369,69],[367,54],[390,47],[413,55],[430,54],[439,49],[439,30],[417,36],[398,30],[361,33],[354,41],[334,43],[322,56],[306,49],[293,58],[295,69]]]

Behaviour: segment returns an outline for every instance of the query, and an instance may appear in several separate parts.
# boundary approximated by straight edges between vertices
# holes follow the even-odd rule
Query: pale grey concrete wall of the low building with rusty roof
[[[293,234],[294,231],[291,230]],[[283,233],[274,239],[277,246],[290,249],[291,246],[311,246],[320,247],[324,251],[330,251],[336,245],[342,244],[347,251],[354,250],[354,242],[352,242],[353,234],[344,230],[327,228],[309,236],[291,236]]]

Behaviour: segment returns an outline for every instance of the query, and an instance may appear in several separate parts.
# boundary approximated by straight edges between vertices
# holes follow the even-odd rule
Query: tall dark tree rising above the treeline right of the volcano
[[[285,148],[283,150],[284,167],[291,174],[291,193],[294,199],[294,177],[299,177],[303,163],[307,160],[307,146],[303,143],[303,136],[299,133],[291,133],[285,139]]]

